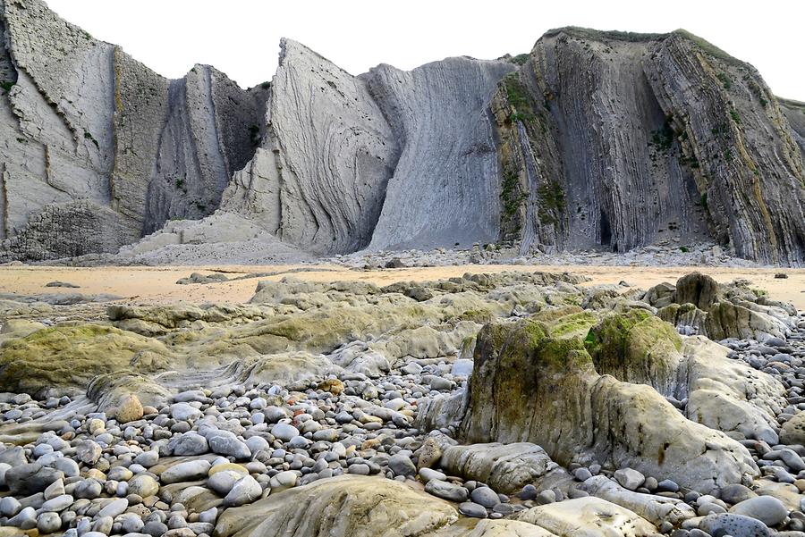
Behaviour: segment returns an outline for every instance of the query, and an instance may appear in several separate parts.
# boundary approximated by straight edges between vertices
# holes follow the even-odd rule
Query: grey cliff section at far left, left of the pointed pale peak
[[[166,80],[38,0],[0,10],[3,257],[114,252],[216,209],[253,154],[265,89],[200,65]]]

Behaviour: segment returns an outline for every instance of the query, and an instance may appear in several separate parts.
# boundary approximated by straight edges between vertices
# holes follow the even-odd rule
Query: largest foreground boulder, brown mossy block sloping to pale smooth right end
[[[560,464],[597,462],[702,492],[758,474],[747,449],[691,422],[648,385],[595,369],[578,338],[530,320],[479,333],[462,441],[530,441]]]

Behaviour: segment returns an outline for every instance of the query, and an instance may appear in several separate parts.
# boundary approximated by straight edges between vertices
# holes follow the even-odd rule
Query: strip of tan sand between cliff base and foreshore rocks
[[[296,268],[315,272],[287,273]],[[203,302],[247,302],[254,294],[260,280],[281,280],[292,276],[308,281],[360,280],[387,285],[394,281],[438,280],[463,273],[500,273],[504,271],[545,271],[550,273],[572,272],[589,276],[596,283],[629,284],[648,289],[661,281],[676,281],[680,276],[692,271],[713,276],[717,281],[732,281],[736,278],[750,280],[755,287],[767,289],[769,296],[777,300],[791,301],[798,309],[805,310],[805,270],[803,269],[747,269],[721,267],[615,267],[615,266],[540,266],[540,265],[457,265],[438,267],[418,267],[384,270],[352,270],[340,265],[270,265],[270,266],[202,266],[202,267],[47,267],[47,266],[3,266],[0,267],[0,292],[21,295],[40,295],[64,292],[83,294],[109,293],[126,301],[141,304],[167,304],[177,301],[191,303]],[[249,273],[279,273],[274,276],[249,278],[239,281],[225,281],[211,284],[177,285],[180,278],[192,272],[226,273],[235,278]],[[283,273],[285,272],[285,273]],[[787,279],[775,279],[775,273],[786,273]],[[80,289],[48,288],[49,281],[67,281],[79,285]]]

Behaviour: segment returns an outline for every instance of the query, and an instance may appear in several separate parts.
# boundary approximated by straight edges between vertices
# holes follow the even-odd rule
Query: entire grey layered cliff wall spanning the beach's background
[[[715,239],[805,261],[805,107],[681,30],[556,29],[530,55],[357,77],[284,40],[242,90],[208,66],[165,80],[39,0],[0,21],[0,260],[217,210],[206,237],[223,216],[316,254]]]

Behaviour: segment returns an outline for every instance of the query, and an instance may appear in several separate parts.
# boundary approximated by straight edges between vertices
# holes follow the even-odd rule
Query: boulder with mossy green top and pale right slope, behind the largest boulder
[[[775,415],[786,404],[783,384],[727,358],[728,348],[701,336],[682,340],[671,324],[639,309],[608,315],[589,331],[585,345],[598,373],[687,399],[689,419],[777,442]]]

